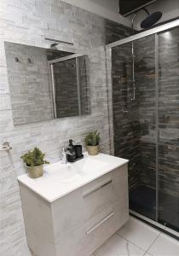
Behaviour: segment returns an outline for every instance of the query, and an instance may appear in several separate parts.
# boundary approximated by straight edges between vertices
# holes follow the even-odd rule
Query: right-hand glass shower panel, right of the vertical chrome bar
[[[159,223],[179,231],[179,27],[158,37]]]

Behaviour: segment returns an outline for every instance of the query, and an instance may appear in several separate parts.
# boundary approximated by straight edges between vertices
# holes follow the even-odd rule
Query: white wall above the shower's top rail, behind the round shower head
[[[150,13],[161,11],[163,13],[162,19],[159,22],[173,19],[179,16],[179,0],[158,0],[156,3],[147,7]],[[141,20],[146,17],[145,12],[140,11],[136,16],[136,28],[140,29]]]

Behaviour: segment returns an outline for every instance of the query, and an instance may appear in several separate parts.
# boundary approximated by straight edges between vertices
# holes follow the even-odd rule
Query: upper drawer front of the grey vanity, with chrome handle
[[[84,186],[84,221],[88,222],[98,213],[105,212],[107,207],[118,203],[123,194],[128,194],[127,166],[113,170]]]

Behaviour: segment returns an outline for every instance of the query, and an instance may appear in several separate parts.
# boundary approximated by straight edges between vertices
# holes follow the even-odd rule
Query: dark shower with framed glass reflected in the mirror
[[[50,61],[54,76],[55,116],[62,118],[90,113],[89,61],[87,55]]]

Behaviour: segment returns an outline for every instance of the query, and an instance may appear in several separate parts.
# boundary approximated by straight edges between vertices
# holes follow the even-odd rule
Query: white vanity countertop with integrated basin
[[[92,182],[97,177],[127,164],[128,161],[108,154],[97,154],[95,156],[84,154],[84,159],[78,160],[76,163],[62,165],[59,161],[43,166],[43,177],[31,178],[28,174],[23,174],[18,177],[18,181],[32,189],[46,201],[52,202]],[[59,173],[62,176],[59,177]]]

